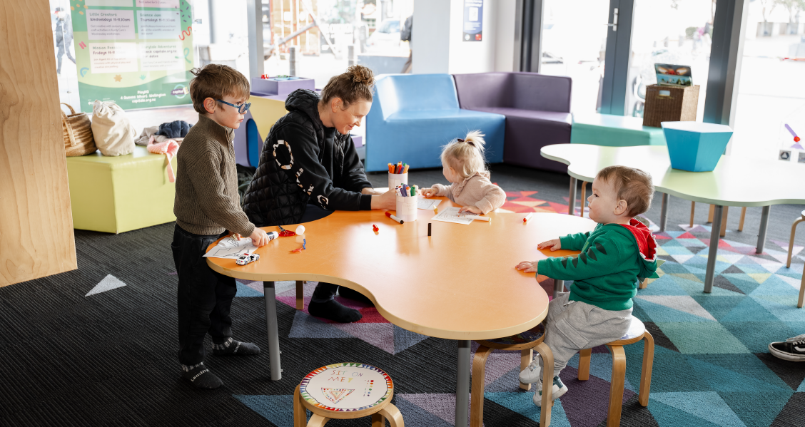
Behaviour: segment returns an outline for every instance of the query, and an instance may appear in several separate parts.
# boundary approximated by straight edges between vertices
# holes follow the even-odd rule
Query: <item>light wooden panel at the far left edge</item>
[[[77,268],[48,7],[0,1],[0,286]]]

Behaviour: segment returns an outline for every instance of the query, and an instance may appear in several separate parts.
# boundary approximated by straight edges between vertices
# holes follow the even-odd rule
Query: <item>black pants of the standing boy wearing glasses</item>
[[[210,244],[224,234],[201,236],[177,224],[173,232],[173,261],[179,275],[176,302],[179,309],[179,362],[195,365],[204,360],[204,335],[213,343],[232,336],[229,308],[237,294],[233,277],[216,273],[203,257]]]

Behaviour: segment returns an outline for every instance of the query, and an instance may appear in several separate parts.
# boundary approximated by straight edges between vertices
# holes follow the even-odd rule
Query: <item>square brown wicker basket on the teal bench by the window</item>
[[[650,84],[646,86],[643,125],[658,128],[663,121],[696,121],[698,107],[698,84],[685,88]]]

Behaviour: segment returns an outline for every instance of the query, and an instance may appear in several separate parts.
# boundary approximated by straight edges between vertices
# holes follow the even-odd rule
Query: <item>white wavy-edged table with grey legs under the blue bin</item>
[[[669,195],[715,206],[707,271],[704,276],[706,293],[712,291],[721,214],[725,206],[763,207],[757,246],[757,252],[762,253],[771,205],[805,204],[805,166],[794,162],[721,156],[718,166],[712,172],[688,172],[671,169],[665,146],[556,144],[544,146],[541,153],[544,158],[568,165],[568,174],[571,177],[568,213],[571,215],[576,207],[576,180],[592,182],[599,170],[615,165],[636,167],[651,174],[654,188],[663,193],[659,224],[661,230],[666,227]]]

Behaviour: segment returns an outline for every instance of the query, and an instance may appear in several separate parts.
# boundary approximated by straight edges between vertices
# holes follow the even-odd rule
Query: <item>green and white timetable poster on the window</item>
[[[70,0],[81,111],[190,104],[192,7],[187,0]]]

